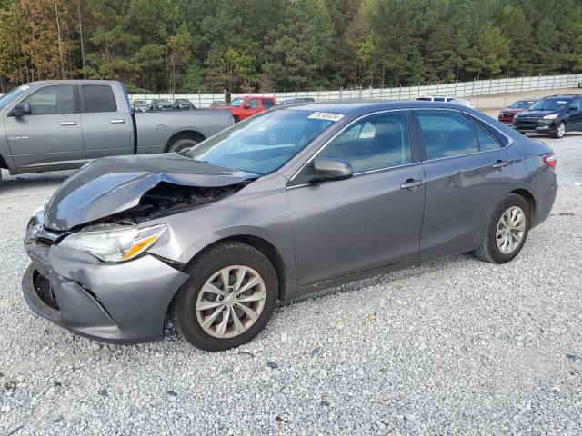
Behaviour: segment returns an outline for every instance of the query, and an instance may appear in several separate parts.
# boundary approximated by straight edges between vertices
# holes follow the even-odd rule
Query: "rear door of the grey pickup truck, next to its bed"
[[[109,84],[82,84],[81,117],[87,159],[133,154],[133,123],[121,96]]]

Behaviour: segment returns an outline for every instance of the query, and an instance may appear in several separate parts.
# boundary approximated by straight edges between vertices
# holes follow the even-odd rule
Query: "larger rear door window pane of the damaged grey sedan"
[[[426,160],[477,153],[475,124],[454,111],[416,111]]]

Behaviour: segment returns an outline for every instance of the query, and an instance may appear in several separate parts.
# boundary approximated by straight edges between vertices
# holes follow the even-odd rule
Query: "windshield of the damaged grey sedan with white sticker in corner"
[[[343,115],[269,111],[247,118],[206,140],[186,156],[247,173],[273,173]],[[324,114],[326,115],[326,114]]]

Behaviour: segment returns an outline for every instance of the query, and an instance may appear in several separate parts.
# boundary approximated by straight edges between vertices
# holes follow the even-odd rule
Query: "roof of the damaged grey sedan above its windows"
[[[388,109],[443,108],[467,111],[467,106],[447,102],[426,102],[422,100],[352,100],[331,101],[282,106],[285,111],[333,112],[336,114],[365,114],[366,112]]]

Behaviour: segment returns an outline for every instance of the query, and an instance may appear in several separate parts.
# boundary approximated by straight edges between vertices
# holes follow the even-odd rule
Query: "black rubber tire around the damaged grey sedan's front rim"
[[[230,338],[216,338],[201,327],[196,317],[196,300],[213,274],[231,265],[247,266],[258,272],[265,282],[266,299],[262,312],[248,330]],[[187,342],[207,352],[220,352],[251,341],[263,330],[276,306],[278,284],[275,268],[266,256],[245,243],[221,243],[186,268],[190,279],[182,286],[173,307],[176,331]]]

